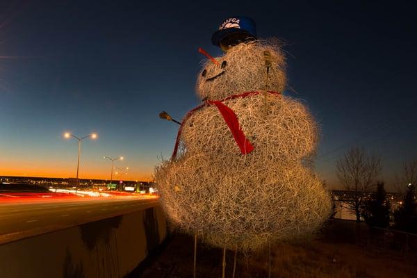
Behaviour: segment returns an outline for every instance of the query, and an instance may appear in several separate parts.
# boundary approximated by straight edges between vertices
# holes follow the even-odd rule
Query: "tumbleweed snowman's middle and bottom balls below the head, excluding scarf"
[[[224,101],[254,146],[240,149],[218,108],[207,106],[183,124],[181,152],[156,167],[161,203],[174,226],[207,243],[260,250],[297,240],[328,218],[329,194],[311,170],[318,128],[290,97],[263,95]]]

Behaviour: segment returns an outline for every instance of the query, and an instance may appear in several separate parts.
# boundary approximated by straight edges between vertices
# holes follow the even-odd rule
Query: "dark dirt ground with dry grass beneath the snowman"
[[[172,234],[158,254],[130,277],[193,277],[193,238]],[[271,247],[271,277],[417,277],[417,260],[400,252],[315,239]],[[227,252],[226,277],[232,277],[234,252]],[[197,245],[197,277],[222,276],[222,250]],[[238,253],[235,277],[268,277],[268,250]]]

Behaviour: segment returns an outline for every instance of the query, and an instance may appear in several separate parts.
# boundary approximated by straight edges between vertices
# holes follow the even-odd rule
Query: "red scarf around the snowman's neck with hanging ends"
[[[183,129],[183,125],[186,123],[188,118],[191,117],[191,115],[193,115],[195,113],[195,111],[203,108],[204,106],[210,106],[210,105],[215,105],[219,109],[220,113],[223,116],[224,122],[226,122],[227,126],[229,126],[230,132],[233,135],[234,140],[236,141],[236,144],[238,145],[238,147],[240,149],[240,153],[241,154],[249,154],[250,152],[252,152],[254,150],[254,147],[252,146],[250,141],[247,140],[247,138],[245,136],[245,133],[243,133],[242,129],[240,129],[240,124],[239,124],[238,117],[236,116],[234,111],[231,110],[231,108],[222,104],[222,102],[227,101],[229,99],[236,99],[238,97],[243,98],[243,97],[248,97],[248,96],[252,96],[252,95],[259,95],[261,93],[262,92],[244,92],[243,94],[231,95],[230,97],[226,97],[225,99],[221,99],[221,100],[214,100],[214,101],[213,100],[206,100],[206,101],[204,101],[204,104],[201,104],[201,105],[197,106],[196,108],[190,110],[186,114],[186,117],[183,118],[183,121],[181,122],[181,126],[179,126],[179,130],[178,130],[178,133],[177,133],[177,140],[175,141],[174,152],[172,152],[171,160],[174,160],[177,157],[179,138],[181,137],[181,132],[182,132],[182,129]],[[274,94],[274,95],[280,95],[279,92],[268,91],[268,93]]]

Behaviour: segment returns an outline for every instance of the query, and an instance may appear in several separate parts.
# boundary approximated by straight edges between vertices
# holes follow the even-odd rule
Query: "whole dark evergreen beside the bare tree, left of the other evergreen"
[[[389,226],[391,205],[386,197],[384,183],[378,183],[374,193],[363,202],[362,215],[366,224],[371,227],[386,228]]]

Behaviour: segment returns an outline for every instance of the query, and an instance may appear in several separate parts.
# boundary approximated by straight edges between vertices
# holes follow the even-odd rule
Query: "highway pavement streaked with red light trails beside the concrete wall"
[[[0,244],[156,206],[158,197],[0,202]]]

